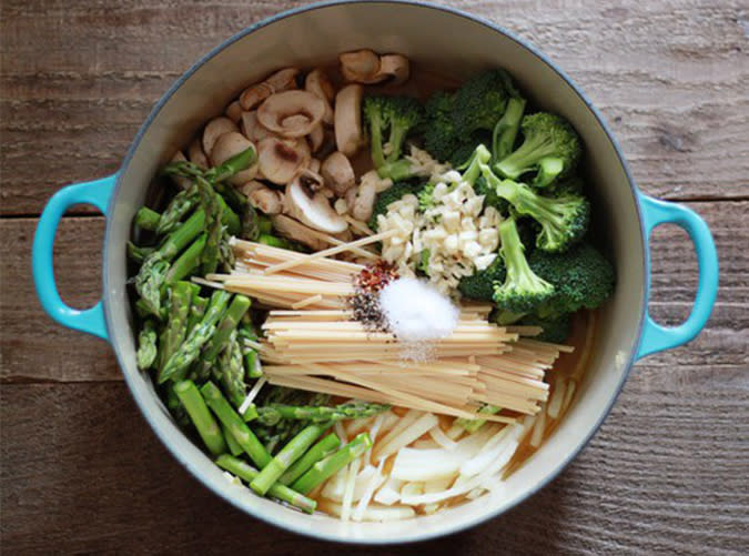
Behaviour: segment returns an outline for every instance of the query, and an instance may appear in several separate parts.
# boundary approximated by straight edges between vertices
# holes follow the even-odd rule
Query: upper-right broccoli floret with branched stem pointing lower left
[[[533,185],[545,188],[575,169],[580,158],[580,139],[564,119],[548,112],[526,115],[520,124],[523,144],[495,164],[512,180],[536,171]]]

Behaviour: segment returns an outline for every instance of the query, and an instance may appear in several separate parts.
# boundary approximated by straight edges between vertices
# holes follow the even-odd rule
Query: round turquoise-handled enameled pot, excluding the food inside
[[[156,170],[209,118],[246,85],[274,69],[312,68],[360,48],[399,52],[457,77],[503,67],[546,110],[567,118],[585,141],[597,225],[608,239],[618,283],[603,310],[597,343],[577,401],[545,445],[505,488],[428,517],[384,524],[343,524],[308,516],[230,484],[176,427],[151,380],[135,366],[135,340],[125,289],[125,242]],[[88,203],[107,216],[102,301],[85,311],[60,300],[52,274],[52,243],[60,219]],[[699,289],[689,319],[662,327],[648,315],[648,236],[662,223],[684,228],[695,244]],[[544,54],[508,31],[473,16],[421,2],[331,2],[284,12],[232,37],[193,65],[155,105],[119,172],[70,185],[49,202],[33,243],[33,275],[44,310],[58,322],[111,343],[135,402],[174,457],[219,496],[247,514],[290,530],[330,540],[401,543],[454,533],[497,516],[546,485],[585,446],[608,414],[632,363],[681,345],[705,325],[716,297],[718,261],[705,222],[684,206],[640,193],[621,152],[583,92]]]

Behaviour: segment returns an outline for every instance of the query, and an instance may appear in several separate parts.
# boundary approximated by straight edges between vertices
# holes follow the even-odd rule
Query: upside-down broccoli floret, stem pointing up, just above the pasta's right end
[[[494,286],[494,302],[500,310],[528,313],[551,297],[554,286],[537,276],[528,265],[515,219],[504,220],[498,230],[499,255],[505,263],[507,274],[504,283],[497,283]]]

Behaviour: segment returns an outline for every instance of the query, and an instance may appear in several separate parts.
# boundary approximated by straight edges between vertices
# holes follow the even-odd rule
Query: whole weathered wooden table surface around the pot
[[[52,323],[31,240],[49,196],[118,169],[202,53],[297,1],[3,0],[0,11],[1,547],[4,554],[341,554],[254,520],[188,475],[145,424],[104,342]],[[636,365],[614,412],[550,486],[437,542],[343,554],[749,553],[749,4],[746,0],[454,2],[537,44],[608,119],[647,193],[715,234],[702,334]],[[65,301],[99,297],[103,219],[75,208],[54,246]],[[691,245],[656,232],[652,314],[676,324]],[[446,553],[447,554],[447,553]]]

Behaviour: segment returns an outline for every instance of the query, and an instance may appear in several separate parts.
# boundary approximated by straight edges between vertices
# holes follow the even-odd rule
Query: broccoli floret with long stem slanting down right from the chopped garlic
[[[590,222],[590,203],[581,195],[565,193],[557,198],[543,196],[525,183],[499,180],[484,165],[482,174],[495,192],[518,213],[530,216],[540,225],[536,246],[558,253],[583,239]]]

